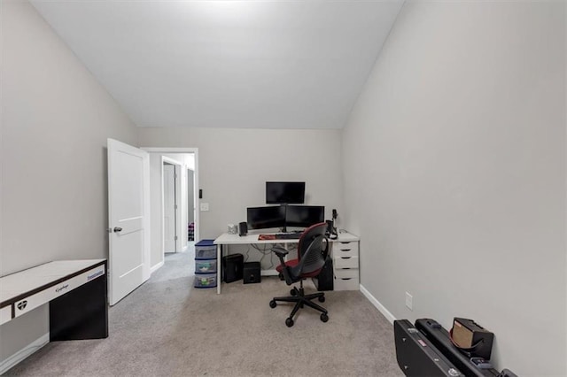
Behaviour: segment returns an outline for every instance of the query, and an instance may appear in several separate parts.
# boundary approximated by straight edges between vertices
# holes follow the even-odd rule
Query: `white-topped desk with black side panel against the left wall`
[[[0,277],[0,325],[50,304],[50,341],[108,337],[106,259],[59,260]]]

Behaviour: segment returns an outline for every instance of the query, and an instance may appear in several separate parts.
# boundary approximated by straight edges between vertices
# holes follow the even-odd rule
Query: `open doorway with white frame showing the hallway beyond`
[[[143,148],[150,154],[151,272],[166,253],[198,240],[198,149]]]

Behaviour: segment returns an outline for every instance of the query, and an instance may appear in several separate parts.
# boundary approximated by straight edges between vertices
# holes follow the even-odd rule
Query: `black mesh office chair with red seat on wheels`
[[[274,297],[269,302],[271,308],[277,306],[277,301],[285,303],[296,303],[291,311],[290,317],[285,319],[287,327],[293,326],[293,316],[302,308],[307,305],[319,312],[321,312],[321,320],[327,322],[329,320],[328,312],[322,306],[312,303],[311,300],[319,299],[319,302],[325,302],[325,294],[317,292],[311,295],[305,295],[303,290],[303,280],[313,278],[321,273],[323,265],[325,265],[325,258],[329,251],[329,240],[325,235],[327,230],[327,223],[315,224],[308,227],[299,238],[298,244],[298,258],[293,260],[284,261],[289,250],[282,247],[275,246],[272,251],[280,258],[280,265],[276,267],[278,273],[283,276],[287,285],[291,285],[299,281],[299,289],[293,287],[290,293],[291,296]]]

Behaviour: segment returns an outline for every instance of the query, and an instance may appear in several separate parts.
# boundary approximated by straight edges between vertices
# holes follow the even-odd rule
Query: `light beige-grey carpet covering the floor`
[[[310,308],[286,327],[290,287],[276,277],[194,289],[193,253],[166,264],[109,311],[103,340],[50,342],[6,375],[402,376],[392,325],[358,291],[326,292],[329,322]],[[309,282],[306,290],[315,290]]]

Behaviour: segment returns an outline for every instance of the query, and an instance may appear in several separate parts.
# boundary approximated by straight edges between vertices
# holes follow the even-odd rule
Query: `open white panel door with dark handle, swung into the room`
[[[150,158],[108,139],[109,301],[118,303],[150,277]]]

